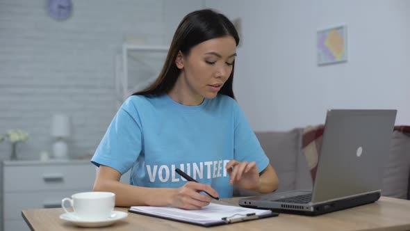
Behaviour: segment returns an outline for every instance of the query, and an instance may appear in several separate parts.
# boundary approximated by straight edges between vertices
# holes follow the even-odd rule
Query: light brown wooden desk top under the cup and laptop
[[[239,198],[222,200],[222,203],[238,205]],[[127,208],[117,207],[126,211]],[[63,209],[27,209],[22,211],[24,220],[32,230],[97,230],[77,228],[60,220]],[[410,201],[382,197],[377,202],[345,209],[321,216],[297,216],[279,214],[259,221],[247,221],[230,225],[202,228],[197,225],[169,221],[161,218],[129,213],[114,225],[99,230],[410,230]]]

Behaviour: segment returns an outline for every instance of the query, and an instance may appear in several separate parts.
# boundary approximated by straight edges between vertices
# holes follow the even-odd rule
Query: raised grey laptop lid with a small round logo
[[[396,110],[327,112],[313,203],[382,188],[396,113]]]

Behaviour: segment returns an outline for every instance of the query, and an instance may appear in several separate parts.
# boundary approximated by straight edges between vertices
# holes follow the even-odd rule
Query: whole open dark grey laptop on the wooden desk
[[[327,111],[313,190],[243,198],[239,205],[317,216],[379,200],[396,113]]]

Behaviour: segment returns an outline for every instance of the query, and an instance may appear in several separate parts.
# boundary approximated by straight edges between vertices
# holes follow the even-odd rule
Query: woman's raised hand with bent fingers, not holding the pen
[[[238,162],[234,159],[226,166],[229,173],[229,184],[235,184],[240,189],[256,191],[259,188],[259,170],[256,162]]]

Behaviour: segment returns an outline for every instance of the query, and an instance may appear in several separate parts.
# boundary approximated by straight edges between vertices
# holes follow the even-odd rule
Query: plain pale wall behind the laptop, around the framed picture
[[[410,125],[410,2],[206,0],[243,21],[235,93],[257,131],[325,122],[327,109],[398,109]],[[318,67],[318,29],[347,25],[348,61]]]

